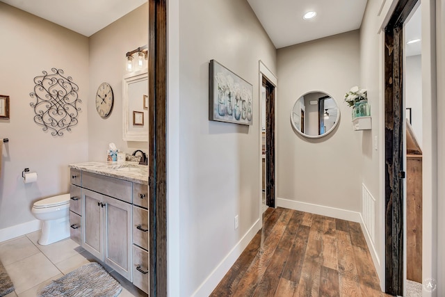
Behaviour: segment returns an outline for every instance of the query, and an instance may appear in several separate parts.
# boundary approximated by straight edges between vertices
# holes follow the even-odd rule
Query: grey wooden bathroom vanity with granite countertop
[[[71,238],[148,293],[148,168],[133,162],[70,165]]]

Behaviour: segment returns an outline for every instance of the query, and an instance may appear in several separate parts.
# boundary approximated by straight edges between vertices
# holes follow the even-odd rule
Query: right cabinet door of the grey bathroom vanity
[[[131,281],[132,205],[104,196],[105,253],[104,262]]]

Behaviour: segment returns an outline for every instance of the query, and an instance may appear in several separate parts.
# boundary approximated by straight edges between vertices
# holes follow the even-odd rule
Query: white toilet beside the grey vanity
[[[31,212],[43,222],[40,245],[47,246],[70,237],[70,194],[39,200],[33,204]]]

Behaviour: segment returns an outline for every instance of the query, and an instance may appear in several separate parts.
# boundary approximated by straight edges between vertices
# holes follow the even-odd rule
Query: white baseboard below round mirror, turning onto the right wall
[[[360,223],[360,225],[362,226],[364,238],[366,239],[366,243],[368,244],[369,252],[371,253],[371,257],[373,258],[375,270],[378,271],[378,269],[381,268],[380,258],[378,257],[377,250],[375,250],[374,243],[371,240],[371,236],[369,235],[368,230],[366,229],[362,214],[360,214],[358,211],[350,211],[334,207],[325,207],[323,205],[287,200],[283,198],[277,198],[275,200],[275,204],[277,205],[277,207],[295,209],[299,211],[310,212],[311,214],[330,216],[332,218],[340,218],[341,220],[350,220],[352,222]]]

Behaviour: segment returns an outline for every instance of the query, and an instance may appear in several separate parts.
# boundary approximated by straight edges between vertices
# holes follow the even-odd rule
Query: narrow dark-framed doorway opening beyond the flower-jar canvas
[[[275,207],[275,86],[262,77],[261,166],[263,210]]]

